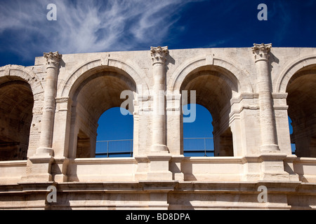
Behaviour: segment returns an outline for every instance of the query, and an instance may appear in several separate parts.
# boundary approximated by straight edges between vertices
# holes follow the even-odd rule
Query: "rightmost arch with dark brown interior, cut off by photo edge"
[[[280,73],[275,92],[287,93],[296,156],[316,158],[316,55],[301,57]]]

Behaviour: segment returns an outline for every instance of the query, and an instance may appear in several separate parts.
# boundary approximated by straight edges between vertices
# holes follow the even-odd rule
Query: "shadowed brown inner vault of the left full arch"
[[[126,99],[131,102],[127,109],[133,111],[132,102],[136,84],[127,73],[109,67],[100,67],[87,72],[90,74],[83,75],[87,78],[78,85],[73,97],[70,138],[72,158],[96,157],[98,121],[103,113],[121,107]],[[129,90],[128,98],[124,95],[121,99],[121,92],[125,90]],[[112,124],[117,125],[114,120]],[[125,127],[125,124],[121,125]],[[114,126],[106,128],[111,130]]]

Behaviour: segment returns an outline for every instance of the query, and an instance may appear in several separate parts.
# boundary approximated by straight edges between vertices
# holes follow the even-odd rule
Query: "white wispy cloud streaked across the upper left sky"
[[[133,50],[161,43],[180,18],[185,4],[199,0],[5,0],[0,5],[0,36],[6,49],[33,57],[34,52],[62,53]],[[57,21],[48,21],[48,3]]]

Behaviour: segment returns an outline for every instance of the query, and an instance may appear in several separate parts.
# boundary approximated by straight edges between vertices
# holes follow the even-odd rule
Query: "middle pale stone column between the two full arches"
[[[165,76],[168,47],[151,47],[153,87],[152,152],[168,153],[166,146]]]

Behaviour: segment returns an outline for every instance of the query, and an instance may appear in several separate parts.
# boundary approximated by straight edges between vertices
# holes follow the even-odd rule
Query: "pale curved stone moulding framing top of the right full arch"
[[[176,71],[172,74],[168,83],[168,90],[179,91],[183,80],[192,72],[198,71],[204,66],[218,67],[226,71],[227,79],[236,79],[238,85],[238,92],[254,92],[254,87],[251,85],[249,79],[249,72],[244,68],[236,66],[236,62],[229,62],[226,59],[220,57],[199,56],[193,59],[187,60],[187,62],[180,65]],[[231,83],[228,81],[228,83]],[[232,87],[232,86],[231,86]],[[233,89],[233,87],[232,87]]]

